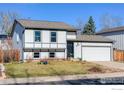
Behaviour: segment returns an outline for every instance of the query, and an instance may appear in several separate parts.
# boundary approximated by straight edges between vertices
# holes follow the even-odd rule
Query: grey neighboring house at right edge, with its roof
[[[96,33],[115,41],[113,47],[117,50],[124,50],[124,26],[102,30]]]

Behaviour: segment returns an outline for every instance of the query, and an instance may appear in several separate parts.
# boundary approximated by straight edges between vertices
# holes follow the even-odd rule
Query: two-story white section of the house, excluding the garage
[[[76,38],[76,29],[63,22],[15,20],[12,37],[21,59],[65,59],[67,39]]]

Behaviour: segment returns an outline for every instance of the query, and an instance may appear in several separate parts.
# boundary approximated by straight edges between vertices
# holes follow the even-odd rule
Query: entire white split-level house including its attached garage
[[[99,35],[77,36],[76,29],[64,22],[15,20],[12,29],[20,60],[68,57],[88,61],[112,61],[113,41]]]

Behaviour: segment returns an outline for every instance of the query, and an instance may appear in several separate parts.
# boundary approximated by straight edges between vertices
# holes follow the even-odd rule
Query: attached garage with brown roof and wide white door
[[[85,61],[113,61],[113,41],[99,35],[81,35],[74,44],[74,58]]]

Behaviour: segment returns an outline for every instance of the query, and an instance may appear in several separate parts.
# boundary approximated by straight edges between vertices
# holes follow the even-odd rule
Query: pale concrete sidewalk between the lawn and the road
[[[86,74],[86,75],[67,75],[67,76],[47,76],[47,77],[31,77],[31,78],[10,78],[0,80],[0,84],[35,84],[47,83],[65,80],[78,80],[78,79],[104,79],[113,77],[124,77],[124,72],[118,73],[105,73],[105,74]],[[66,82],[65,82],[66,83]]]

